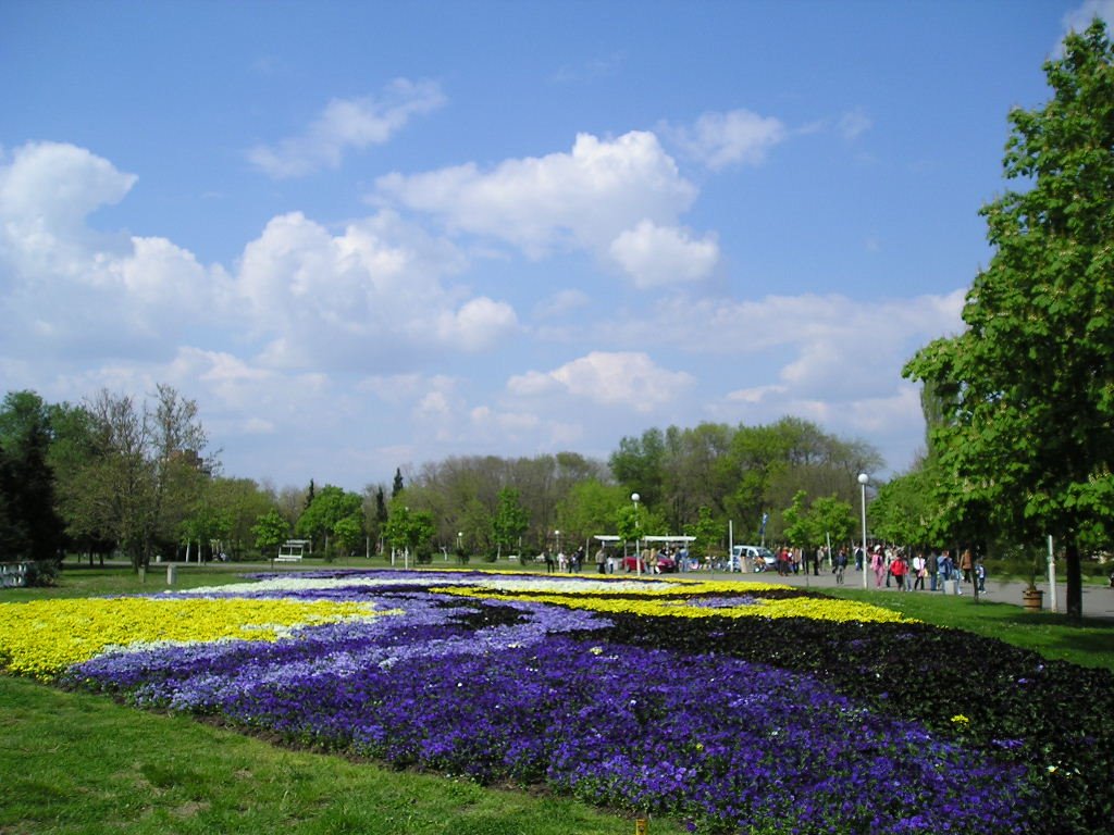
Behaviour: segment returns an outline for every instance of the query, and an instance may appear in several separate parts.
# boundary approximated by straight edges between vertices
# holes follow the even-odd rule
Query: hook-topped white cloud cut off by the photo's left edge
[[[209,310],[219,267],[160,237],[99,233],[87,223],[136,176],[72,145],[32,143],[0,165],[0,313],[43,352],[150,351]]]

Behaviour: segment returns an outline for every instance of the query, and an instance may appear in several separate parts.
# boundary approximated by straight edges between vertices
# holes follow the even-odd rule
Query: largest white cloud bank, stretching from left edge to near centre
[[[339,232],[280,215],[229,274],[167,238],[88,225],[135,181],[63,144],[26,145],[0,163],[7,340],[85,364],[176,363],[184,343],[235,334],[265,367],[372,371],[482,351],[518,332],[510,305],[447,283],[467,265],[450,242],[394,213]]]

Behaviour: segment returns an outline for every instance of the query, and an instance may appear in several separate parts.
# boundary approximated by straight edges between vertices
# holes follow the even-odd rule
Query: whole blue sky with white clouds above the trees
[[[4,0],[2,387],[170,383],[277,487],[786,414],[900,471],[1095,13]]]

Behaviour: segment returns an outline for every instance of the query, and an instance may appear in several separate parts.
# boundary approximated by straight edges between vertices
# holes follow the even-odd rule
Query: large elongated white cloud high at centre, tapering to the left
[[[595,252],[643,219],[670,226],[696,197],[657,137],[614,140],[580,134],[568,154],[475,164],[377,181],[377,202],[394,200],[440,217],[457,233],[481,235],[540,258],[556,247]]]

